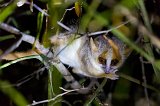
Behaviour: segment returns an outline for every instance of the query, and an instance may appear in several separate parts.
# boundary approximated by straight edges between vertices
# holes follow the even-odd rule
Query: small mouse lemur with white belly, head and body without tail
[[[50,40],[55,57],[72,67],[74,73],[94,78],[118,78],[115,72],[124,62],[125,44],[116,37],[66,32]]]

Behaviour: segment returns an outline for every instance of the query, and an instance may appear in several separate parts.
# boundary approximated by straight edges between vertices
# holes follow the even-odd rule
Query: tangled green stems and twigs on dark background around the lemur
[[[158,0],[0,0],[0,105],[158,106],[159,5]],[[92,79],[96,84],[85,94],[70,87],[45,52],[52,51],[49,38],[66,31],[62,23],[75,30],[74,24],[77,34],[105,30],[123,41],[127,55],[116,72],[119,79]],[[37,47],[44,53],[37,55]],[[91,83],[68,70],[81,86]]]

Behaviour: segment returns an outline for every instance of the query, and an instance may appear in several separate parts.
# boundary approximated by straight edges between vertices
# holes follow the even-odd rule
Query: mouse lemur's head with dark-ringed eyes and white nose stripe
[[[90,38],[91,55],[103,70],[102,77],[117,79],[115,74],[124,62],[124,44],[115,37],[98,36]]]

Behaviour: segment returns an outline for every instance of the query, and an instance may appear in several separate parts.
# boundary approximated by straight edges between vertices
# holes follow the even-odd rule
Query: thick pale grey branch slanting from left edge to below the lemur
[[[0,23],[0,28],[5,30],[5,31],[8,31],[10,33],[16,34],[16,35],[17,34],[21,34],[22,35],[21,40],[18,42],[18,44],[17,45],[12,45],[12,49],[8,50],[9,52],[12,52],[14,49],[16,49],[20,45],[20,43],[22,41],[25,41],[25,42],[30,43],[30,44],[33,44],[34,41],[35,41],[35,38],[33,36],[27,35],[27,34],[25,34],[23,32],[20,32],[18,29],[16,29],[15,27],[10,26],[8,24]],[[48,48],[44,48],[44,46],[41,45],[39,43],[39,41],[36,41],[35,47],[39,50],[39,52],[41,54],[47,55],[47,57],[52,57],[53,56],[52,53],[48,54],[48,53],[50,53],[49,49]],[[7,52],[7,53],[9,53],[9,52]],[[4,56],[4,55],[1,55],[1,56]],[[50,67],[49,62],[45,62],[45,61],[43,61],[43,62],[44,62],[45,67],[49,70],[49,67]],[[82,88],[82,86],[74,79],[74,77],[70,74],[70,72],[65,68],[65,66],[62,63],[51,62],[51,64],[56,66],[56,68],[60,71],[60,73],[64,76],[64,78],[68,82],[72,82],[73,81],[73,83],[71,84],[72,88]],[[1,68],[3,68],[3,67],[1,67]],[[82,90],[82,91],[80,90],[80,92],[81,93],[87,93],[88,90],[86,90],[86,89]]]

